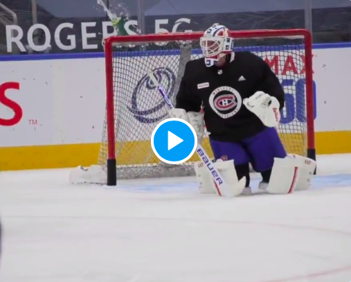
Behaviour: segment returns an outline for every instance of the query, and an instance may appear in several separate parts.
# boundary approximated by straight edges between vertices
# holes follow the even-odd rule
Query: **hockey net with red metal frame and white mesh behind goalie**
[[[234,51],[262,57],[285,89],[286,106],[278,128],[288,152],[314,155],[312,44],[307,30],[233,31]],[[168,107],[147,72],[152,70],[172,100],[188,60],[201,58],[201,33],[109,37],[105,44],[107,113],[98,164],[108,166],[107,182],[117,179],[193,174],[193,156],[170,166],[156,158],[150,138],[168,116]],[[231,101],[228,101],[230,103]],[[208,134],[203,146],[209,155]]]

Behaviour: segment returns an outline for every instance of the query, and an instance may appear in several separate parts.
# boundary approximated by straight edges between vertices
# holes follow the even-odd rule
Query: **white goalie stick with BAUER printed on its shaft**
[[[174,106],[170,101],[170,99],[168,98],[168,96],[165,94],[163,87],[159,84],[159,82],[157,81],[157,78],[154,76],[154,72],[149,71],[147,75],[150,77],[154,85],[159,90],[159,94],[161,94],[162,98],[165,100],[165,103],[168,105],[168,107],[170,109],[174,109]],[[245,186],[245,179],[244,181],[237,182],[237,184],[235,185],[229,186],[228,184],[226,184],[226,182],[224,181],[224,178],[219,173],[219,170],[215,168],[213,161],[211,161],[210,157],[207,155],[206,151],[204,150],[204,148],[202,148],[201,144],[199,143],[197,144],[196,152],[197,152],[197,155],[199,155],[201,161],[206,166],[206,168],[208,168],[208,170],[210,171],[210,175],[215,182],[217,195],[223,196],[223,197],[235,197],[236,195],[239,195],[240,193],[242,193]]]

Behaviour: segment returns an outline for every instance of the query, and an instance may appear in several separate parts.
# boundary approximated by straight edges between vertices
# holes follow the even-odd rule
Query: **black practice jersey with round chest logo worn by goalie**
[[[206,67],[204,58],[186,64],[176,107],[199,112],[204,105],[204,119],[211,138],[217,141],[241,141],[261,132],[260,118],[246,109],[242,101],[256,91],[278,99],[280,109],[285,94],[269,64],[250,52],[227,55],[224,67]]]

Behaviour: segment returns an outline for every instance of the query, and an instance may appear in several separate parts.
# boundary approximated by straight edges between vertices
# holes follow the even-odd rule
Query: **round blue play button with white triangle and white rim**
[[[168,118],[159,123],[151,136],[151,147],[156,157],[166,164],[188,161],[197,147],[194,128],[180,118]]]

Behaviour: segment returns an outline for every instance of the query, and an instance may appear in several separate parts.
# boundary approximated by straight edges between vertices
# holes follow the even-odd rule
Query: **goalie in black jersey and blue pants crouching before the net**
[[[269,193],[291,193],[307,189],[316,162],[298,155],[287,155],[276,127],[285,94],[276,75],[261,58],[248,51],[234,52],[234,39],[228,28],[214,24],[200,39],[204,58],[186,64],[177,94],[176,108],[170,116],[190,122],[201,143],[204,125],[210,146],[222,170],[233,170],[235,179],[246,177],[250,186],[249,163],[262,175],[259,188]],[[195,164],[202,193],[214,193],[208,170]],[[228,175],[228,171],[224,173]]]

